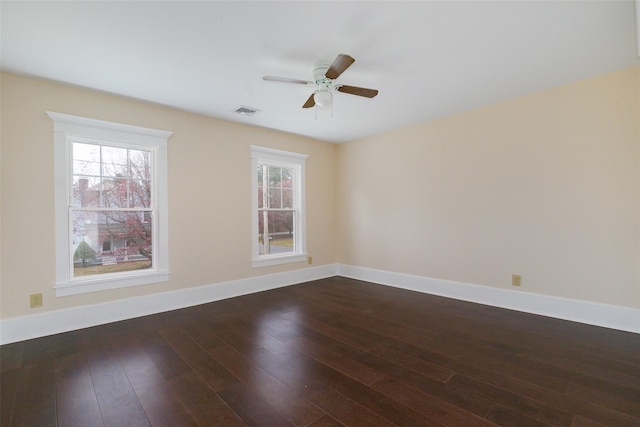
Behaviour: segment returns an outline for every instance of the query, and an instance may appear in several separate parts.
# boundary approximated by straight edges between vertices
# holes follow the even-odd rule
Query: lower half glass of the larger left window
[[[72,211],[73,275],[151,267],[150,211]]]

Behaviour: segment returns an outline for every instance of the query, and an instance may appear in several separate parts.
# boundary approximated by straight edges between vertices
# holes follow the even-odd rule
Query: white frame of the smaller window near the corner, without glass
[[[253,267],[266,267],[269,265],[286,264],[291,262],[307,261],[307,232],[305,221],[305,160],[307,154],[293,153],[290,151],[276,150],[273,148],[251,145],[251,197],[252,197],[252,245]],[[283,254],[260,255],[258,243],[258,164],[268,163],[273,166],[292,168],[294,171],[294,248],[295,252]]]

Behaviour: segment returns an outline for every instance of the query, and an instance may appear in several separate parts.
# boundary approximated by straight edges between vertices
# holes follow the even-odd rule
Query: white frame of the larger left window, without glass
[[[56,296],[76,295],[169,280],[169,228],[167,196],[167,140],[172,132],[139,126],[106,122],[69,114],[47,111],[53,120],[55,173],[55,248]],[[150,151],[153,157],[152,185],[155,213],[153,218],[153,266],[130,272],[73,277],[71,255],[72,226],[72,144],[74,140],[90,140],[101,145],[120,146]]]

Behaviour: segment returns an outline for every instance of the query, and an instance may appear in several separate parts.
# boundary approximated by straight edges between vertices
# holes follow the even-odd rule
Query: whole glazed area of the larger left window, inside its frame
[[[71,147],[71,277],[153,269],[153,152],[74,139]]]

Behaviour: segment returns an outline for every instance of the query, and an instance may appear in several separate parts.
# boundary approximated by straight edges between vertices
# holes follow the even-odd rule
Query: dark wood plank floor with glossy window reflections
[[[2,426],[640,426],[640,335],[340,277],[0,351]]]

